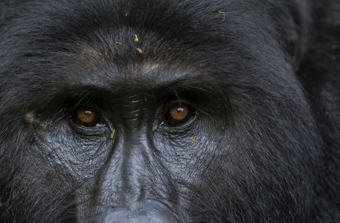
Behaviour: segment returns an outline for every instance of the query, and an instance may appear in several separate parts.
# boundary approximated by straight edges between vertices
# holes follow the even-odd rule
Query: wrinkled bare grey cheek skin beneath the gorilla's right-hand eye
[[[221,139],[221,134],[223,132],[198,120],[181,133],[164,132],[159,128],[153,135],[153,144],[162,154],[163,163],[172,177],[191,183],[218,153],[217,139]]]

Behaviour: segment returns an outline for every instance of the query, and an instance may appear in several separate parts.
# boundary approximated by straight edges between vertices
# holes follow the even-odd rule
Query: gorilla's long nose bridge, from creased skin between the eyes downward
[[[146,125],[142,125],[141,96],[130,96],[121,103],[124,119],[117,124],[112,154],[102,177],[100,203],[126,203],[143,199],[148,169],[143,154],[148,151]]]

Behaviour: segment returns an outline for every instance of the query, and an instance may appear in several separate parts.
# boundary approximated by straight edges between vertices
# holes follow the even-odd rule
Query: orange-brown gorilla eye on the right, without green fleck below
[[[194,114],[194,110],[187,105],[174,105],[167,111],[165,122],[169,126],[180,126],[187,123]]]

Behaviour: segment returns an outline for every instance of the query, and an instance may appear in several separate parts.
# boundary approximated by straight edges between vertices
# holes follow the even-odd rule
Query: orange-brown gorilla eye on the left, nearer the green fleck
[[[79,107],[74,110],[72,121],[79,126],[95,127],[102,123],[102,117],[94,108]]]

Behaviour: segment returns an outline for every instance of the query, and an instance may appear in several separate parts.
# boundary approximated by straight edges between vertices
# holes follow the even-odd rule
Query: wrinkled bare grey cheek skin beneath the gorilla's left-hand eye
[[[58,122],[49,128],[37,127],[34,145],[34,153],[40,154],[39,162],[62,165],[70,175],[84,179],[104,162],[110,141],[104,136],[79,136],[68,122]]]

